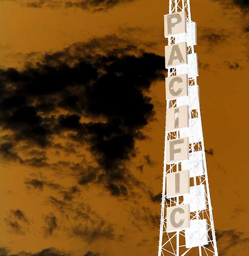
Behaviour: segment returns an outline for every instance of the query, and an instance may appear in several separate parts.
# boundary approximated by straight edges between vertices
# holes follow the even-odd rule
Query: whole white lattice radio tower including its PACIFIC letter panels
[[[179,14],[184,16],[178,19]],[[179,30],[180,21],[185,24],[184,33]],[[169,15],[164,15],[164,24],[167,117],[158,256],[218,256],[197,85],[196,23],[191,20],[190,0],[169,0]],[[178,32],[172,33],[169,25]],[[180,50],[184,49],[181,45],[185,47],[186,55],[181,56],[186,56],[186,61],[179,58],[179,64],[174,65],[178,51],[174,48],[172,55],[172,45],[178,45]],[[173,56],[173,65],[172,61],[167,62],[169,55]],[[179,148],[184,143],[188,149],[185,157],[180,156],[184,147]]]

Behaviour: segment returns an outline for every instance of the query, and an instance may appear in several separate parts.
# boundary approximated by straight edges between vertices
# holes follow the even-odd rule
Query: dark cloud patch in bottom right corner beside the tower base
[[[243,232],[237,231],[235,229],[216,230],[217,243],[219,247],[219,255],[228,255],[231,248],[238,245],[248,245],[249,238],[244,236]]]

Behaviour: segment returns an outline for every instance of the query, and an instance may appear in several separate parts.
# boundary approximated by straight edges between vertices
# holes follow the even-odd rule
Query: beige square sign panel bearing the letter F
[[[180,162],[189,159],[188,137],[166,142],[166,163]]]

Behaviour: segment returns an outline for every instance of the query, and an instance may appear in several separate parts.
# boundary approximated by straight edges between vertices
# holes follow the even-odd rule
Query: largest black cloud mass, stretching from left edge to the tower
[[[78,154],[76,148],[85,146],[98,166],[78,172],[79,184],[102,181],[111,194],[127,194],[126,161],[136,156],[135,141],[146,139],[142,129],[155,115],[146,93],[164,79],[164,70],[163,56],[116,36],[75,43],[23,70],[0,69],[0,126],[13,134],[3,140],[0,154],[55,168],[42,153],[46,148]],[[55,143],[55,136],[67,145]],[[33,148],[31,158],[20,158],[20,143]]]

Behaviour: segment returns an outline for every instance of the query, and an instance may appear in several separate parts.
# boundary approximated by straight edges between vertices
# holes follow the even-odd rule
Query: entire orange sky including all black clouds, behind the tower
[[[190,0],[218,251],[245,256],[249,1]],[[157,255],[161,0],[0,1],[0,255]]]

